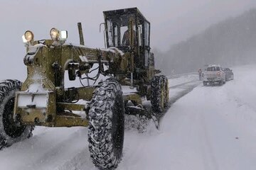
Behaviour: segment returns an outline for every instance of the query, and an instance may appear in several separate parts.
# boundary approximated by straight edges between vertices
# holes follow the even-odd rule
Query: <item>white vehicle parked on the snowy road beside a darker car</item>
[[[220,65],[208,65],[206,71],[202,73],[203,86],[207,84],[225,84],[225,72]]]

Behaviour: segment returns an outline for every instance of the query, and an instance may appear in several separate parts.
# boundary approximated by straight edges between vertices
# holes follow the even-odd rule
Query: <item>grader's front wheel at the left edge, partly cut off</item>
[[[14,121],[15,93],[20,89],[21,81],[0,82],[0,149],[32,136],[33,126]]]

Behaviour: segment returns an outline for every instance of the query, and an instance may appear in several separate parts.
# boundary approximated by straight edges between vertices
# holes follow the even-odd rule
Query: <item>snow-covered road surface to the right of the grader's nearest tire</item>
[[[129,132],[119,169],[255,169],[256,69],[234,72],[224,86],[201,85],[176,101],[160,132]]]

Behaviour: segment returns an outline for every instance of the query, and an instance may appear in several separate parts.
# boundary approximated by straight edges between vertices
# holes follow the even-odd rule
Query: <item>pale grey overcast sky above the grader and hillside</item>
[[[50,28],[68,30],[68,41],[79,43],[77,23],[82,22],[85,44],[104,47],[102,11],[137,6],[151,22],[151,47],[168,48],[212,23],[256,6],[255,0],[0,0],[0,68],[16,60],[22,68],[25,48],[21,35],[32,30],[35,39],[48,39]],[[12,60],[13,59],[13,60]],[[16,75],[17,71],[12,71]],[[26,75],[24,75],[26,76]],[[0,78],[3,75],[0,74]],[[6,78],[6,77],[4,77]]]

